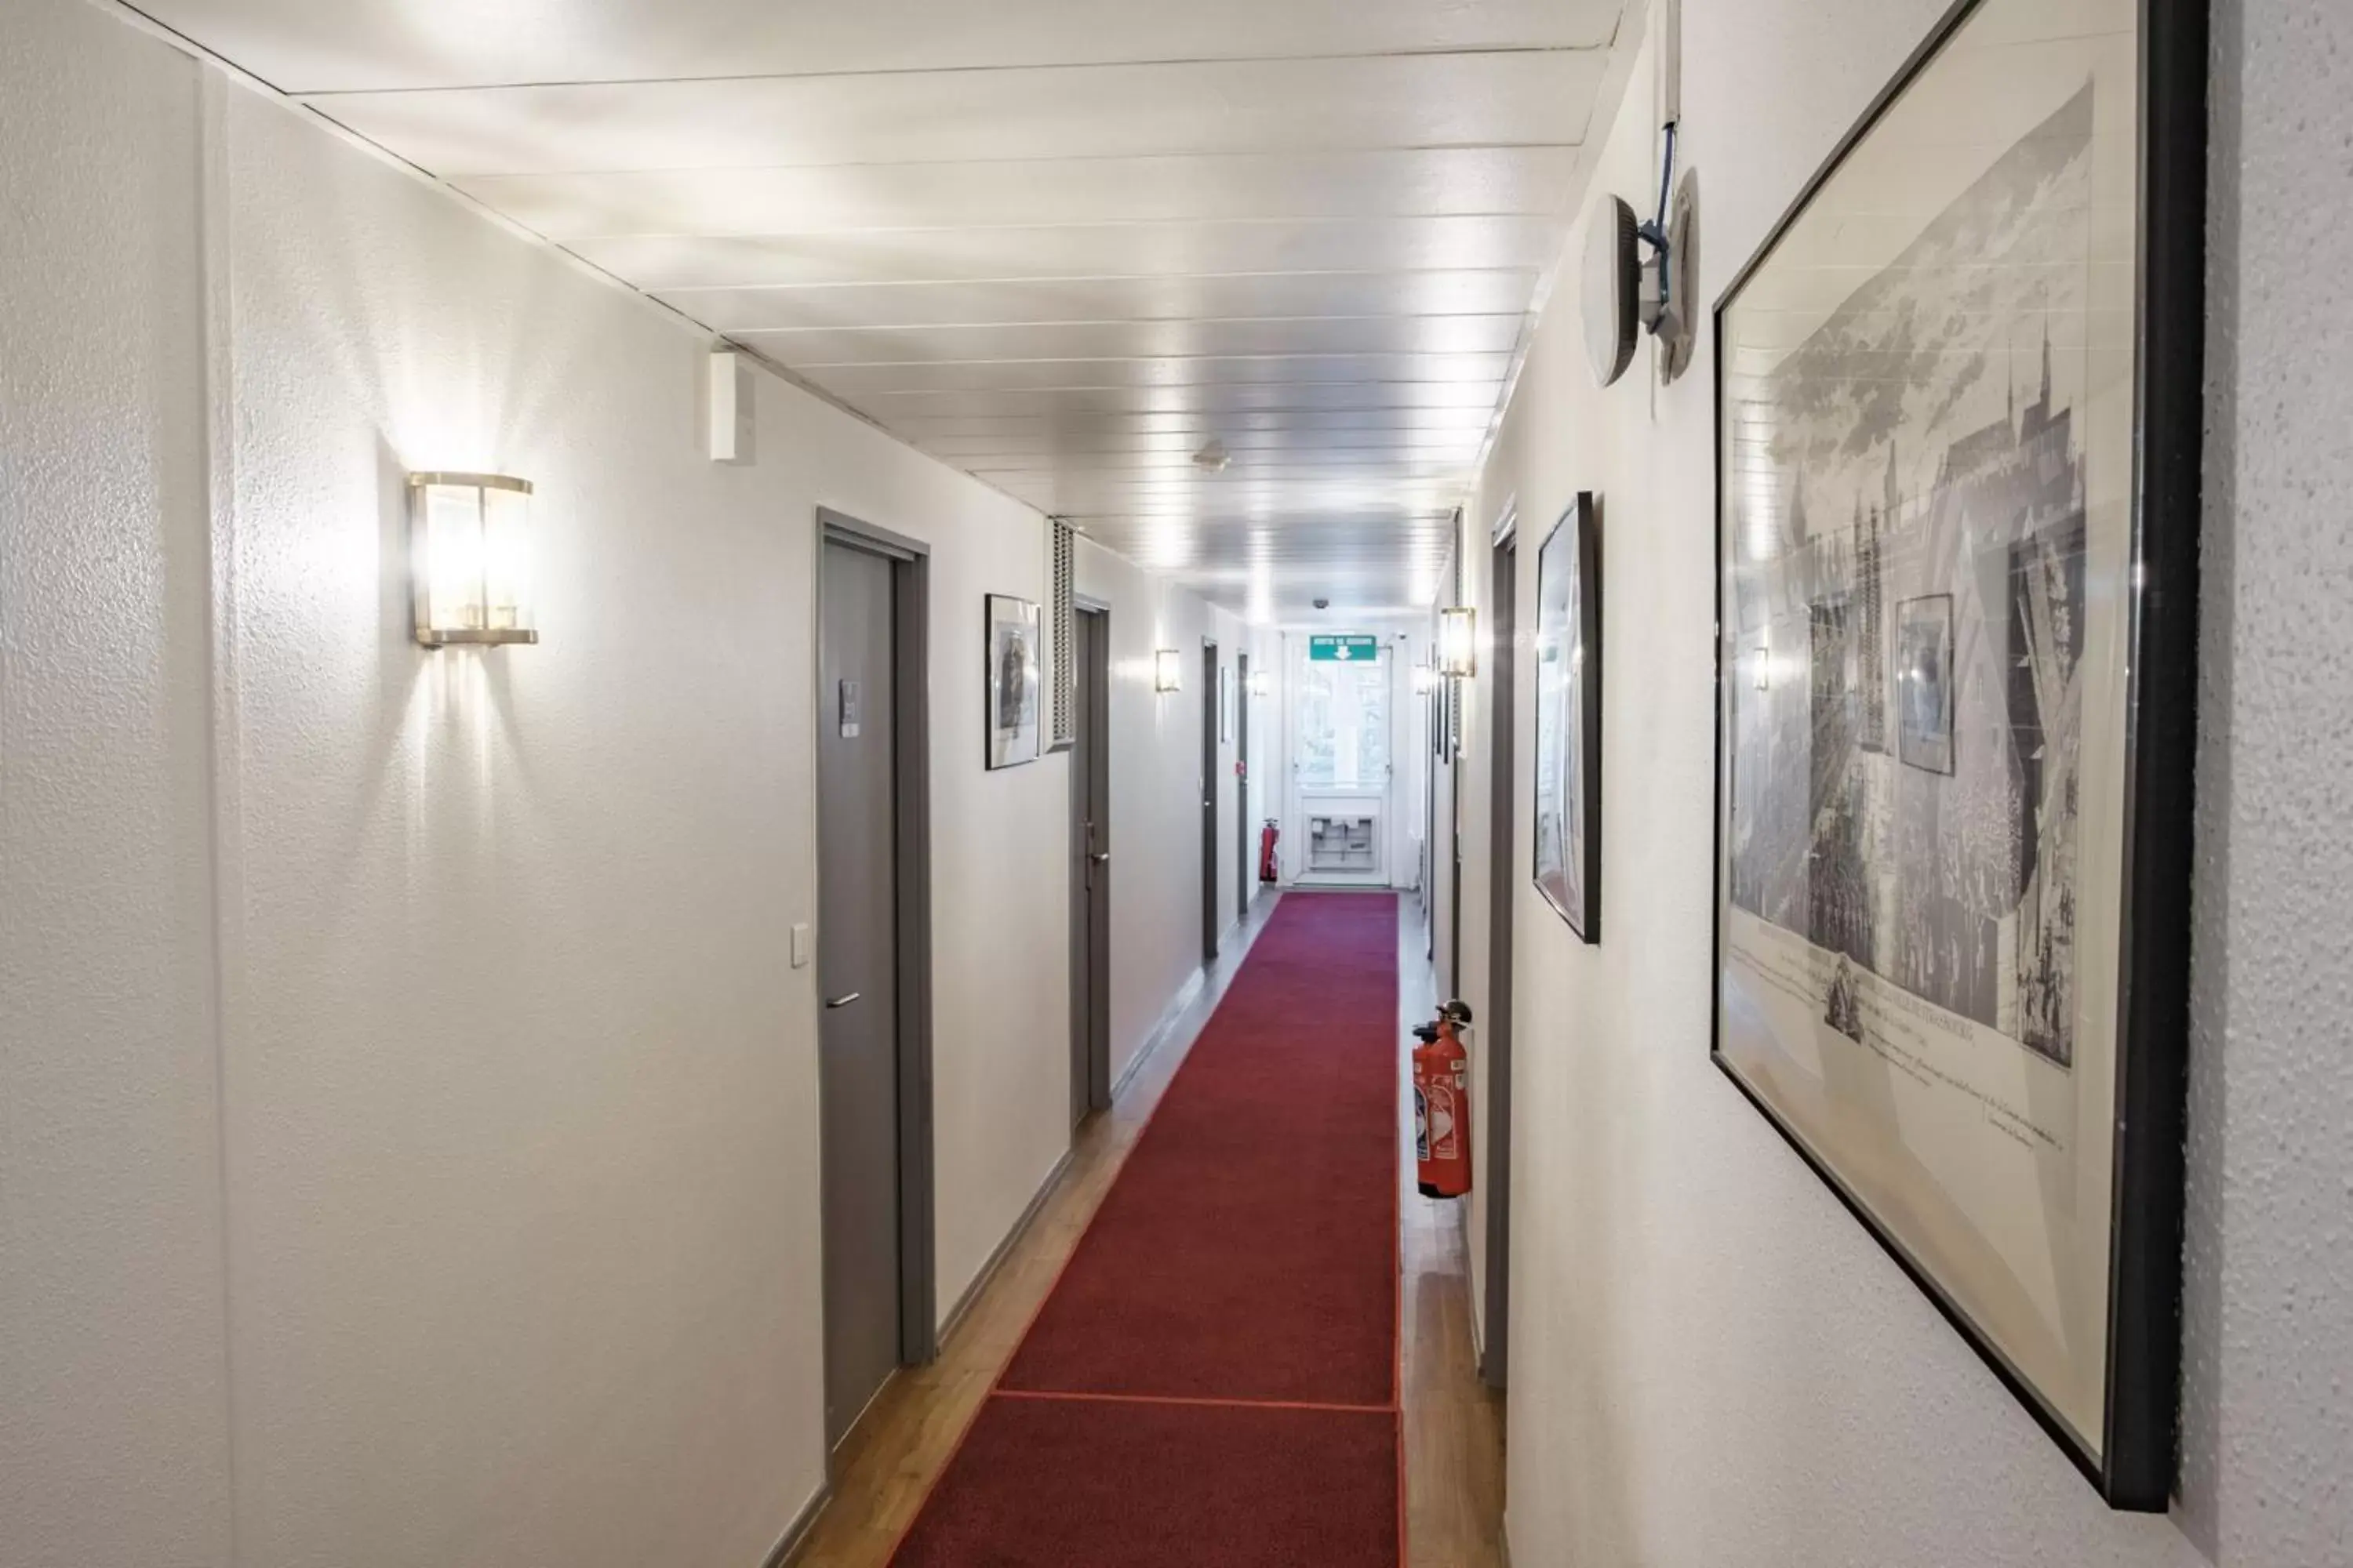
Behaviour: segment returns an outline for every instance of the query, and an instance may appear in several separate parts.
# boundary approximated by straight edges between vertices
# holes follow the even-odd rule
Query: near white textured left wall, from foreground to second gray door
[[[774,378],[711,465],[696,331],[75,0],[0,197],[0,1563],[758,1563],[814,515],[932,545],[941,1309],[1068,1140],[1068,769],[981,766],[1042,520]],[[409,642],[412,468],[536,482],[541,646]]]

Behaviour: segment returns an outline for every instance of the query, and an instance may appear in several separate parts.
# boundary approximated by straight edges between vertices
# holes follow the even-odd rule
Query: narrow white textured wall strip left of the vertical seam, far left
[[[0,24],[0,1563],[228,1561],[195,73]]]

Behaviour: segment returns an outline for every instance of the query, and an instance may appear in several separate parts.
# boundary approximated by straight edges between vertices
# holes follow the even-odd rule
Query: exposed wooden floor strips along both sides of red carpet
[[[1313,893],[1301,893],[1313,898]],[[1257,940],[1273,898],[1261,898],[1242,933],[1226,938],[1200,997],[1165,1044],[1136,1070],[1118,1105],[1078,1133],[1056,1190],[995,1276],[948,1333],[939,1361],[899,1373],[842,1439],[833,1502],[786,1561],[795,1568],[880,1568],[946,1467],[981,1399],[1014,1354],[1038,1302],[1078,1246],[1096,1204],[1120,1173],[1144,1121],[1184,1063],[1226,983]],[[1421,912],[1402,900],[1400,1013],[1428,1018],[1431,973]],[[1400,1020],[1400,1039],[1402,1039]],[[1402,1058],[1402,1053],[1400,1053]],[[1400,1140],[1405,1128],[1400,1128]],[[1407,1561],[1412,1568],[1497,1568],[1504,1519],[1504,1406],[1473,1373],[1471,1300],[1461,1204],[1433,1204],[1405,1171],[1405,1465]],[[1214,1568],[1214,1566],[1202,1566]]]

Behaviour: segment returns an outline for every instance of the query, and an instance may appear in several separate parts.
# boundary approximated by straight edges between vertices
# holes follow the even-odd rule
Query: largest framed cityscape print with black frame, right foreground
[[[2162,1509],[2207,24],[2066,14],[1955,5],[1715,306],[1713,1056]]]

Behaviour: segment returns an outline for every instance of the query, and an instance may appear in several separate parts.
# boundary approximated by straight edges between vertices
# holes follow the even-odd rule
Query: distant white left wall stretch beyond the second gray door
[[[1202,637],[1217,639],[1228,668],[1245,649],[1252,668],[1273,668],[1275,639],[1087,538],[1078,543],[1078,592],[1111,614],[1111,1081],[1118,1084],[1200,969],[1200,724],[1202,703],[1217,703],[1214,689],[1202,691]],[[1184,658],[1181,689],[1153,691],[1158,649]],[[1252,750],[1271,769],[1268,698],[1259,698],[1252,724]],[[1219,931],[1240,907],[1233,757],[1235,745],[1221,743]]]

